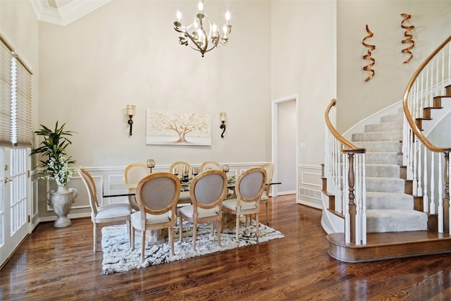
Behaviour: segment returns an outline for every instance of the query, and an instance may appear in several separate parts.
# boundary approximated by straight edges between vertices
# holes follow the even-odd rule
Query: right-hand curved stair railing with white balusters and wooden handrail
[[[438,232],[451,233],[451,147],[437,147],[422,133],[431,111],[440,109],[445,98],[451,102],[451,36],[421,63],[404,90],[402,142],[407,180],[412,180],[413,194],[422,201],[419,208],[430,216],[436,214]],[[448,135],[451,138],[451,133]],[[451,139],[445,144],[451,145]]]

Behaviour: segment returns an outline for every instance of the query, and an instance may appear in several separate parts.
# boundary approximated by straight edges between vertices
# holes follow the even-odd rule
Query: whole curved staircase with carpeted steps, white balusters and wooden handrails
[[[336,100],[330,102],[322,223],[336,229],[326,237],[331,257],[369,262],[451,252],[448,123],[436,141],[423,131],[433,111],[445,111],[443,99],[451,99],[451,36],[412,75],[402,110],[367,124],[352,142],[330,122]]]

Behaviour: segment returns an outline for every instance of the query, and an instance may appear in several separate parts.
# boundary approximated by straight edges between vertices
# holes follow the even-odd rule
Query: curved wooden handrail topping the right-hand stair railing
[[[421,143],[423,143],[423,145],[427,149],[429,149],[431,152],[451,152],[451,147],[435,147],[434,145],[431,144],[431,142],[429,142],[429,140],[426,137],[424,137],[424,135],[421,133],[421,131],[419,130],[418,126],[416,125],[416,123],[414,121],[414,118],[410,114],[409,106],[407,104],[407,101],[408,101],[408,97],[409,97],[409,92],[412,89],[412,85],[414,85],[414,81],[416,80],[416,78],[418,78],[418,76],[421,73],[421,71],[428,65],[428,63],[433,59],[433,57],[436,54],[438,54],[438,52],[441,49],[443,49],[443,47],[445,47],[445,45],[447,43],[449,43],[450,41],[451,41],[451,35],[450,35],[450,37],[448,37],[445,40],[445,42],[440,44],[440,46],[437,49],[435,49],[435,51],[433,51],[433,53],[431,55],[428,56],[426,61],[421,63],[419,68],[414,72],[414,75],[412,76],[412,78],[407,83],[406,90],[404,90],[404,96],[402,97],[402,107],[404,109],[404,115],[407,118],[407,122],[409,123],[410,128],[412,128],[412,131],[414,132],[414,135],[416,135],[416,137],[418,137],[418,139],[421,141]]]

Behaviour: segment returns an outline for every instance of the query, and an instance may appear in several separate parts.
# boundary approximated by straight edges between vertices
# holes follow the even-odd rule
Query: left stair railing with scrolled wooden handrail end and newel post
[[[326,152],[323,165],[323,192],[333,196],[328,210],[345,218],[345,242],[366,244],[365,149],[356,147],[340,135],[330,122],[335,99],[325,113]],[[326,183],[324,183],[326,181]],[[332,191],[328,191],[332,188]]]

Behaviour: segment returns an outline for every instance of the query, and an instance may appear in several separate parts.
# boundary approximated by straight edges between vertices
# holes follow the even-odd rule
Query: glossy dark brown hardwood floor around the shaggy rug
[[[339,262],[321,211],[295,195],[275,199],[270,226],[285,238],[101,275],[89,219],[42,223],[0,271],[0,300],[451,300],[449,254]]]

